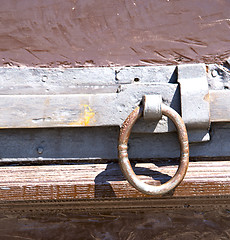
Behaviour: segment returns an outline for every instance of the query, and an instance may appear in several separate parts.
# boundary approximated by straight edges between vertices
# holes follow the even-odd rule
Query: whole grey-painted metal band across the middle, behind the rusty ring
[[[182,113],[190,143],[209,139],[209,98],[212,138],[191,144],[190,156],[229,157],[229,89],[229,65],[0,68],[0,162],[117,159],[119,127],[145,95]],[[158,111],[152,104],[146,113]],[[132,128],[130,158],[178,157],[173,123],[146,113]]]

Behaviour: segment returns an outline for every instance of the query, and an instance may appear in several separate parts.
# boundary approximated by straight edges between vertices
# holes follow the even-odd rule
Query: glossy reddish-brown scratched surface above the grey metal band
[[[1,0],[0,66],[220,63],[229,0]]]

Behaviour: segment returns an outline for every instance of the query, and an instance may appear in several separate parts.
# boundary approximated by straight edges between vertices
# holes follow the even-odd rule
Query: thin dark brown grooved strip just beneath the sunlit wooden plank
[[[139,198],[139,199],[100,199],[100,200],[50,200],[50,201],[12,201],[0,202],[0,213],[36,215],[47,213],[74,212],[115,212],[146,211],[154,212],[186,210],[229,209],[229,196]]]

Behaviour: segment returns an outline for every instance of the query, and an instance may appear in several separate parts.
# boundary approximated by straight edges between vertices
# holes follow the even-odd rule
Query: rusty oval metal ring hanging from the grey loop
[[[142,182],[138,176],[134,173],[129,158],[128,158],[128,140],[132,130],[133,125],[137,121],[137,119],[143,114],[143,106],[139,106],[131,112],[131,114],[127,117],[125,122],[123,123],[119,141],[118,141],[118,156],[121,170],[128,180],[128,182],[137,190],[144,194],[150,195],[162,195],[170,192],[176,186],[180,184],[183,180],[189,164],[189,143],[188,143],[188,134],[186,131],[186,127],[184,121],[180,117],[180,115],[173,110],[171,107],[162,104],[162,114],[169,117],[173,123],[175,124],[178,132],[178,138],[180,141],[180,163],[175,175],[166,183],[153,186]]]

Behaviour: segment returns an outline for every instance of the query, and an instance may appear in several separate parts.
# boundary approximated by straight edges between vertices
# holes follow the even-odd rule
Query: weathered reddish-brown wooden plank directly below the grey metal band
[[[166,165],[139,163],[135,171],[141,180],[157,185],[177,169]],[[1,167],[0,173],[1,202],[156,198],[130,186],[116,163]],[[230,161],[191,162],[183,182],[167,197],[230,197],[229,185]]]

